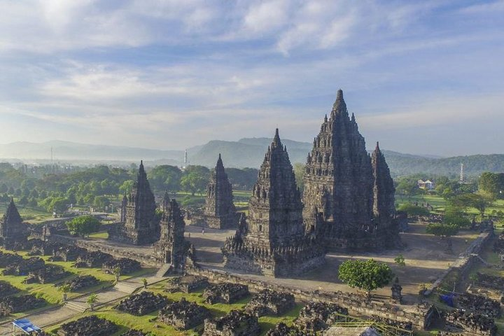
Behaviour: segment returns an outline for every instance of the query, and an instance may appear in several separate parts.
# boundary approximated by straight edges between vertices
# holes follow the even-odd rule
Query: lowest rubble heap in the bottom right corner
[[[494,336],[497,335],[497,326],[493,318],[470,311],[456,309],[446,316],[449,328],[458,328],[470,335]]]

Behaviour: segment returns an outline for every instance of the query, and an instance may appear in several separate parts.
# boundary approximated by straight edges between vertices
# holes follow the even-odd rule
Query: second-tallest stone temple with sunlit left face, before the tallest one
[[[305,235],[300,191],[278,129],[253,186],[248,223],[222,248],[225,266],[266,276],[303,274],[325,262],[324,248]]]

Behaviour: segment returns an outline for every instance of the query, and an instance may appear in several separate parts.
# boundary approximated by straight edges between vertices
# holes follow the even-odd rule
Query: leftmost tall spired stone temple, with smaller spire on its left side
[[[133,190],[123,198],[121,222],[109,230],[109,239],[135,245],[158,241],[160,224],[155,209],[154,194],[147,180],[144,162],[140,162]]]

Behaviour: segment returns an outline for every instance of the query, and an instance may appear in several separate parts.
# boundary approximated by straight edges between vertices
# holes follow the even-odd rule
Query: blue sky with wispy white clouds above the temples
[[[0,0],[0,143],[311,141],[504,153],[504,1]]]

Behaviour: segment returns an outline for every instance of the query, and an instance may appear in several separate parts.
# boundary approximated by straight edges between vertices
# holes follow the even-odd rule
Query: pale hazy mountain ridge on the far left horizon
[[[0,144],[0,158],[48,160],[124,160],[137,162],[140,159],[167,159],[182,162],[183,151],[158,151],[155,149],[132,148],[125,146],[78,144],[70,141],[48,141],[41,144],[13,142]]]

